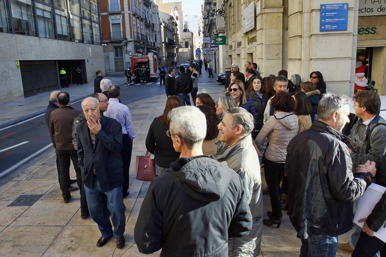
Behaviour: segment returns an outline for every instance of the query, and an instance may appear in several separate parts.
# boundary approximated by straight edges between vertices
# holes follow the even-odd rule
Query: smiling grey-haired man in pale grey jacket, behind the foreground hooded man
[[[259,158],[252,145],[253,128],[254,118],[241,107],[226,110],[222,122],[218,125],[222,143],[217,143],[215,157],[217,161],[227,162],[228,166],[239,174],[252,214],[251,232],[243,237],[228,240],[228,255],[232,257],[257,256],[260,253],[263,202]]]

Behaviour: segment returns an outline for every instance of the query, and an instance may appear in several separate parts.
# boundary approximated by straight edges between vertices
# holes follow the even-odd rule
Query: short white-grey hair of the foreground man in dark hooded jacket
[[[168,114],[169,128],[179,135],[188,149],[200,147],[207,135],[207,118],[194,106],[173,108]]]

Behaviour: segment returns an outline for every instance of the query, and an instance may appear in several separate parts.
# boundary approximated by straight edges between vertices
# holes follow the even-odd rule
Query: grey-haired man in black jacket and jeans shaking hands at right
[[[351,202],[375,176],[374,171],[352,174],[349,139],[341,133],[349,122],[349,103],[345,95],[326,93],[318,120],[287,147],[289,219],[301,239],[301,256],[335,256],[338,236],[352,229]]]

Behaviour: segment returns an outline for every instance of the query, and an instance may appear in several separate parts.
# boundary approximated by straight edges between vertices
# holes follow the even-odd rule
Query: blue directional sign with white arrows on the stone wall
[[[328,3],[320,5],[320,30],[347,30],[348,3]]]

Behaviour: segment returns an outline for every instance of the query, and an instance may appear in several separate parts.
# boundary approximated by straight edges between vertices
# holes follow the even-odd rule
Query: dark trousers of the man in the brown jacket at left
[[[78,184],[79,189],[82,188],[82,176],[81,171],[78,166],[78,152],[73,150],[58,150],[56,149],[56,156],[59,159],[59,167],[60,167],[60,184],[62,186],[62,196],[64,200],[69,200],[70,191],[69,187],[69,179],[70,179],[70,161],[73,162],[74,169],[76,172],[76,183]]]

